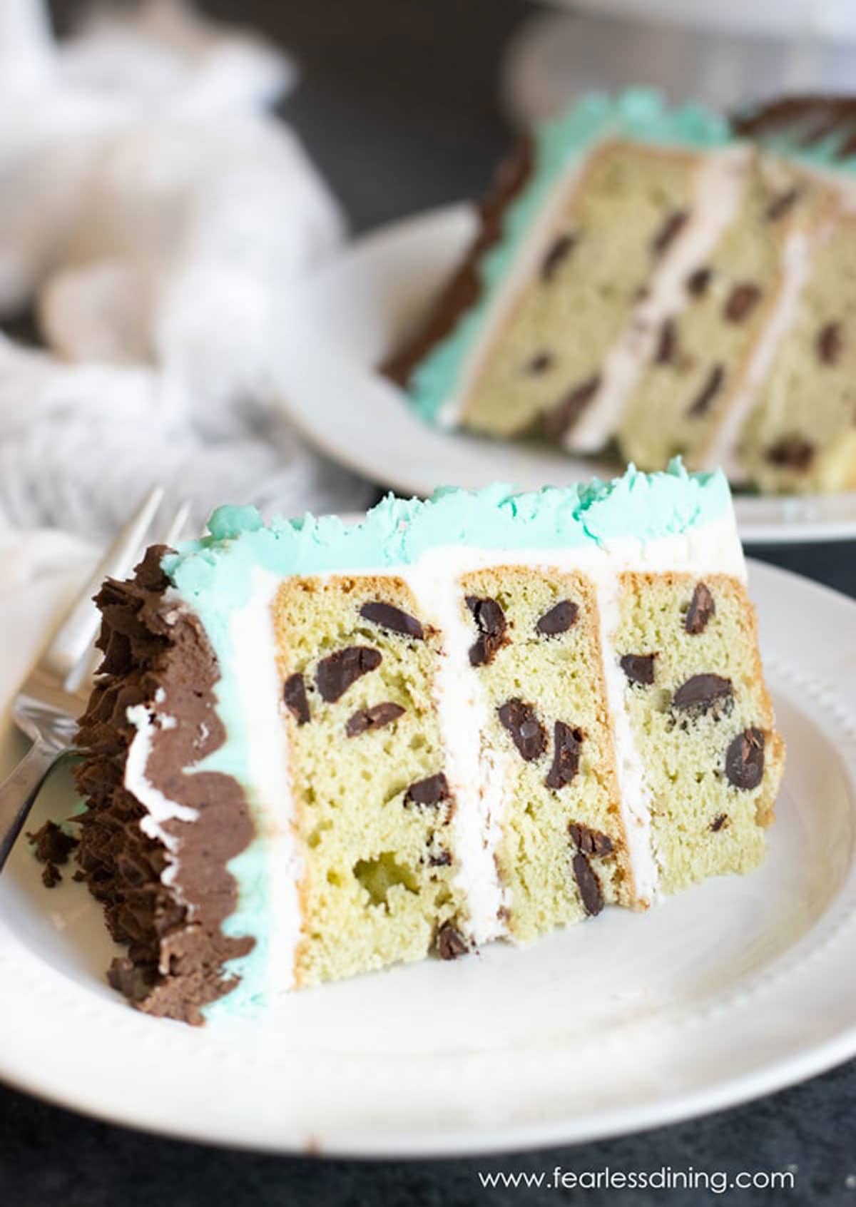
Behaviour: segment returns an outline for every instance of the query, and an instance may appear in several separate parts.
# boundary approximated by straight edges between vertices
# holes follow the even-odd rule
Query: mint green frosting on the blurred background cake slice
[[[409,398],[423,419],[433,420],[459,380],[471,344],[482,331],[496,287],[554,186],[595,142],[607,136],[640,142],[715,147],[730,141],[728,122],[701,105],[669,109],[660,93],[630,88],[618,97],[590,93],[567,112],[535,132],[532,173],[502,217],[500,240],[481,258],[478,301],[452,333],[425,356],[408,383]]]

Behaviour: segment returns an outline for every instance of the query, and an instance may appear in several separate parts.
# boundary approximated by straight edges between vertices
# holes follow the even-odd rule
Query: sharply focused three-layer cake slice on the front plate
[[[782,770],[721,474],[221,508],[98,597],[77,857],[200,1021],[749,871]]]

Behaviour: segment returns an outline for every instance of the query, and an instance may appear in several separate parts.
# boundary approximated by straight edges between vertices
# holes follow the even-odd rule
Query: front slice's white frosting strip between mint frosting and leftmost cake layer
[[[295,800],[289,737],[283,713],[272,605],[281,578],[254,570],[249,602],[229,622],[235,680],[246,741],[248,794],[267,864],[266,991],[272,998],[293,987],[301,937],[298,884],[302,862],[293,832]]]

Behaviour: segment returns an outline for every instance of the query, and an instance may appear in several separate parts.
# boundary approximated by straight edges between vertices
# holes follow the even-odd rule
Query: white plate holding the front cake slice
[[[0,690],[71,583],[0,605]],[[0,876],[0,1077],[117,1123],[281,1151],[452,1154],[650,1127],[856,1054],[856,604],[761,564],[751,589],[788,744],[763,868],[648,915],[607,910],[293,995],[255,1020],[150,1019],[104,982],[100,911]],[[4,770],[17,744],[6,729]],[[57,785],[33,826],[63,817]]]

